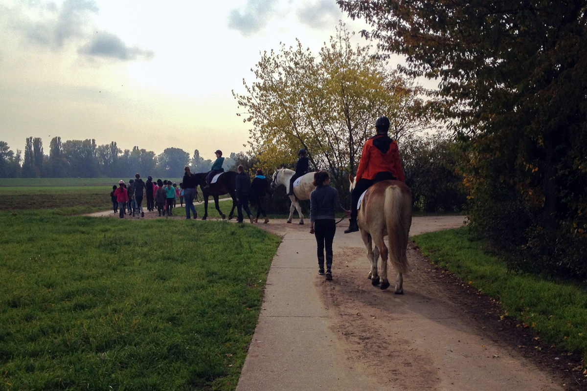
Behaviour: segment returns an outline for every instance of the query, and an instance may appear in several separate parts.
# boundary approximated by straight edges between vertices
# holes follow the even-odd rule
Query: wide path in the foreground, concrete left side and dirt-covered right
[[[414,217],[410,233],[463,222],[463,216]],[[562,389],[463,318],[433,281],[411,275],[404,280],[404,296],[394,296],[393,285],[384,292],[371,287],[365,247],[359,234],[342,232],[346,225],[337,229],[339,263],[329,282],[318,277],[309,225],[272,220],[265,226],[283,241],[237,391]],[[354,251],[356,263],[337,258],[344,251]],[[373,305],[381,300],[384,305]],[[488,353],[494,348],[499,354]]]

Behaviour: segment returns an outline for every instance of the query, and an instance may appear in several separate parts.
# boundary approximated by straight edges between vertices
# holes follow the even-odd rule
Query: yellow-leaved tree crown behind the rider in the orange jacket
[[[251,151],[265,171],[291,166],[305,148],[312,168],[328,169],[343,186],[377,117],[390,118],[395,138],[431,126],[421,115],[419,87],[390,72],[373,47],[353,47],[350,38],[340,25],[317,57],[299,40],[279,53],[265,52],[254,69],[257,81],[244,82],[247,94],[233,91],[253,127]]]

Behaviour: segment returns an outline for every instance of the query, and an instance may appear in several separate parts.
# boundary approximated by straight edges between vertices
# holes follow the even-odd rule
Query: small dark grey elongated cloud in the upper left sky
[[[136,46],[126,46],[122,39],[109,32],[98,33],[90,42],[79,48],[79,53],[123,61],[139,58],[150,60],[155,56],[155,53],[151,50],[140,49]]]

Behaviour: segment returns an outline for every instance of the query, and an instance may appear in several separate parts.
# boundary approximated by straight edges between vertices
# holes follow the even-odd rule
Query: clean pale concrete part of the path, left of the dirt
[[[414,218],[411,234],[427,226],[448,229],[463,225],[463,216]],[[272,221],[271,225],[284,224]],[[440,224],[440,226],[439,226]],[[291,225],[283,225],[285,228]],[[357,368],[330,328],[328,311],[315,286],[318,274],[316,239],[309,225],[288,230],[271,264],[255,334],[242,368],[237,391],[390,390]],[[337,227],[333,246],[363,247],[359,234]],[[392,287],[393,288],[393,287]]]

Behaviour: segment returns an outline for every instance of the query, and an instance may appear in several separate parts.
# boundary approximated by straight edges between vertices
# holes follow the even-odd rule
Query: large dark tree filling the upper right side
[[[478,231],[528,267],[587,278],[573,250],[587,247],[587,2],[338,4],[406,56],[404,73],[439,81]]]

